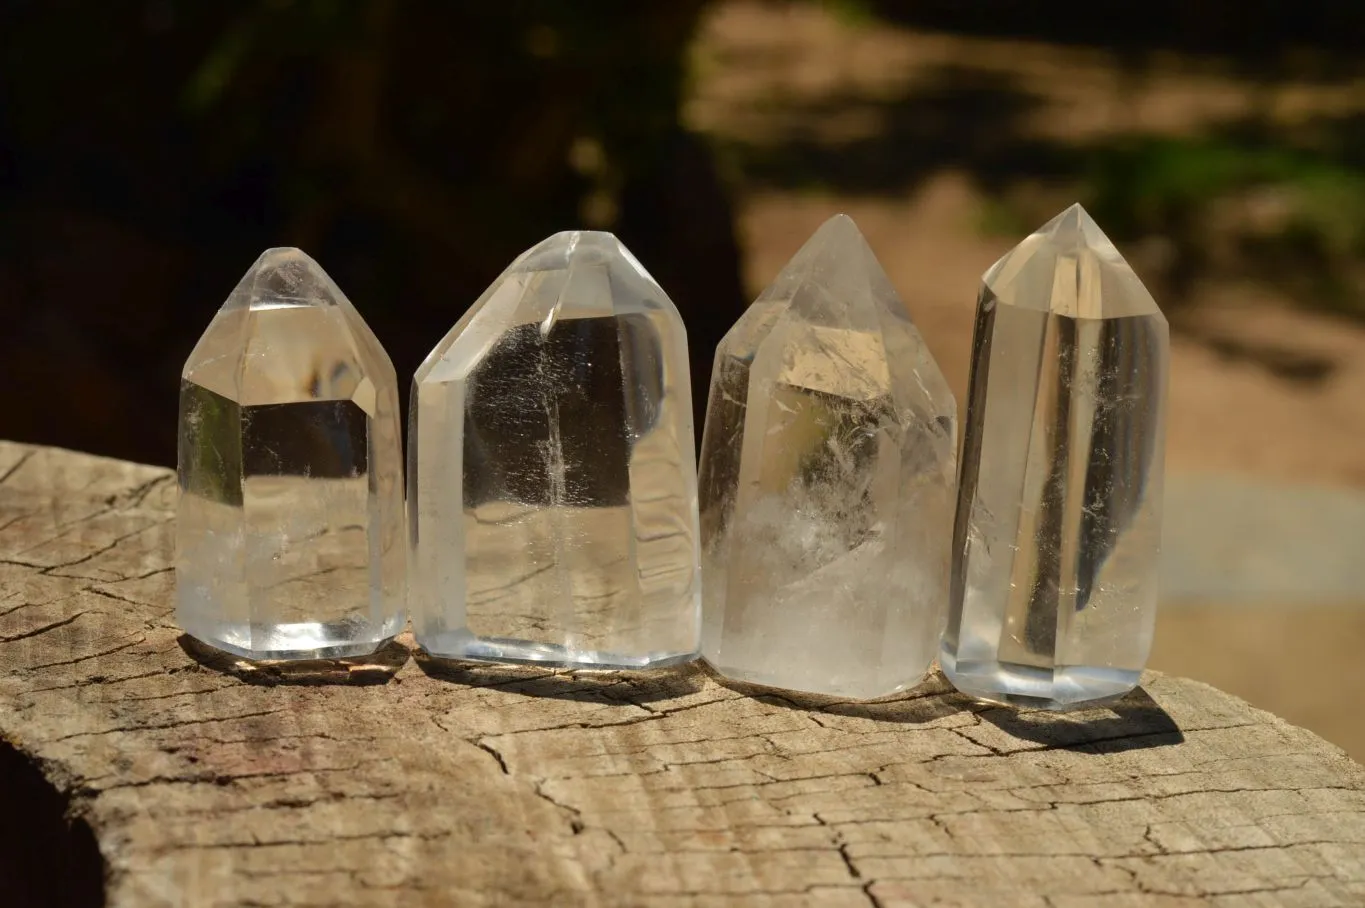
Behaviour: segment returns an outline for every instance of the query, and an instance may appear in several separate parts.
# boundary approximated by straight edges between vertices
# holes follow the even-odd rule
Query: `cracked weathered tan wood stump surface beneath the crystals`
[[[400,647],[253,670],[175,627],[173,497],[0,444],[7,908],[1365,903],[1365,769],[1209,687],[1048,717]]]

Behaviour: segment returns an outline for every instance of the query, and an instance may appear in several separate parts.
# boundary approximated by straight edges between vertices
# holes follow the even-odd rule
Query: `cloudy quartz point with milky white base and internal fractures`
[[[947,604],[957,406],[853,221],[721,341],[702,441],[703,654],[770,687],[915,685]]]

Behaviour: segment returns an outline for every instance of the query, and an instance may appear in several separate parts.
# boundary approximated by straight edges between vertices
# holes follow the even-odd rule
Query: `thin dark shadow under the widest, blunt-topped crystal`
[[[495,687],[524,696],[603,706],[639,706],[672,700],[696,694],[706,683],[706,675],[698,662],[642,672],[592,672],[444,659],[420,649],[414,651],[412,659],[427,677],[437,681],[464,687]]]

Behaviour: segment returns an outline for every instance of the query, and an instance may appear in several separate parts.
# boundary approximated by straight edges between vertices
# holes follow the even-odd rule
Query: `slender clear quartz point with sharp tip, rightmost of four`
[[[1080,205],[983,279],[940,659],[1059,709],[1132,690],[1156,619],[1166,318]]]

